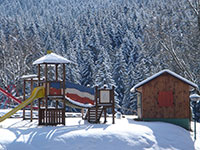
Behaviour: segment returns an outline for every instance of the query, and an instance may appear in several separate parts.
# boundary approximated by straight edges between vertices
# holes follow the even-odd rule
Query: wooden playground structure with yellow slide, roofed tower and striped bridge
[[[71,61],[61,57],[55,53],[48,53],[33,62],[37,65],[37,75],[25,75],[23,99],[24,102],[12,109],[10,112],[0,118],[0,122],[9,118],[18,110],[23,108],[23,119],[25,118],[25,107],[29,104],[31,110],[38,108],[38,124],[39,125],[65,125],[66,105],[79,109],[87,109],[86,115],[83,117],[91,123],[99,123],[104,112],[104,122],[106,122],[107,109],[112,110],[113,123],[114,110],[114,87],[112,89],[95,89],[84,87],[78,84],[66,81],[66,64],[73,64]],[[73,64],[75,65],[75,64]],[[26,84],[30,83],[31,96],[26,99]],[[34,85],[37,87],[34,88]],[[11,94],[0,89],[6,96],[17,100]],[[38,99],[38,106],[33,107],[33,101]],[[20,102],[19,102],[20,103]],[[51,104],[51,106],[50,106]]]

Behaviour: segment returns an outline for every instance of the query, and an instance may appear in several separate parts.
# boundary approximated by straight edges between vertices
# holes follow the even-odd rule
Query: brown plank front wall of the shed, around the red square
[[[142,118],[189,118],[189,85],[171,76],[162,74],[142,86]],[[173,91],[174,104],[158,105],[161,91]]]

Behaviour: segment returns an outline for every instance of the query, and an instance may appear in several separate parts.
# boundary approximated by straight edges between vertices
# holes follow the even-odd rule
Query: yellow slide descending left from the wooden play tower
[[[11,111],[9,111],[8,113],[6,113],[5,115],[3,115],[0,118],[0,122],[4,121],[5,119],[9,118],[10,116],[12,116],[14,113],[16,113],[18,110],[26,107],[28,104],[30,104],[32,101],[34,101],[37,98],[42,98],[44,97],[45,90],[43,86],[40,87],[36,87],[31,96],[26,99],[24,102],[22,102],[20,105],[18,105],[17,107],[15,107],[14,109],[12,109]]]

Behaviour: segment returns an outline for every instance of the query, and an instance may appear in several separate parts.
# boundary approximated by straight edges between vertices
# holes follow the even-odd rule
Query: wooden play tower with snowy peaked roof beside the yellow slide
[[[38,100],[39,125],[65,125],[66,64],[71,61],[51,52],[33,62],[38,68],[38,86],[45,87],[45,96]],[[52,85],[57,91],[51,90]]]

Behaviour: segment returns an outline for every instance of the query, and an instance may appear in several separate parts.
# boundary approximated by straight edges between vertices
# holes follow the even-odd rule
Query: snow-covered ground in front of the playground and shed
[[[193,132],[168,123],[134,121],[133,116],[126,116],[115,124],[111,118],[106,124],[90,124],[74,117],[77,114],[68,116],[72,117],[66,118],[66,126],[56,127],[9,118],[0,123],[0,149],[200,150],[200,123],[194,142]]]

